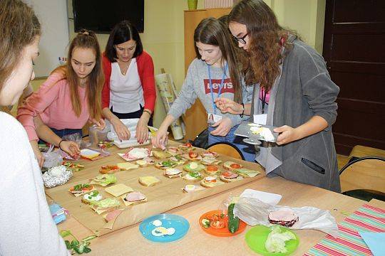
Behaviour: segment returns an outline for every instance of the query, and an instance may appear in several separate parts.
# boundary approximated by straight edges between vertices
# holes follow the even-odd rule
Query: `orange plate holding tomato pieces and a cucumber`
[[[245,231],[246,223],[244,223],[242,220],[240,220],[240,228],[238,228],[238,230],[235,233],[230,233],[230,231],[227,228],[227,221],[228,221],[227,214],[225,214],[224,218],[220,218],[220,220],[225,221],[225,227],[224,228],[212,228],[211,226],[210,226],[210,228],[203,227],[202,219],[204,219],[204,218],[210,219],[210,218],[212,218],[212,215],[215,215],[215,214],[220,216],[221,213],[222,213],[222,210],[210,210],[209,212],[200,216],[200,218],[199,218],[200,228],[202,228],[202,230],[205,231],[205,233],[207,233],[207,234],[215,235],[215,236],[219,236],[219,237],[234,236],[234,235],[238,235],[238,234],[242,233],[243,231]]]

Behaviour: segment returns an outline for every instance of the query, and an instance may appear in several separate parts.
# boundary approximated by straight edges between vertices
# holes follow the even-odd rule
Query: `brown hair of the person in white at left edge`
[[[26,46],[41,34],[34,10],[20,0],[0,2],[0,90],[21,60]]]

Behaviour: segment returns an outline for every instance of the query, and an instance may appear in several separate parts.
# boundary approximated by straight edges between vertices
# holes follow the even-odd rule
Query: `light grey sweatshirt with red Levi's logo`
[[[210,67],[211,80],[212,80],[212,92],[214,99],[218,97],[218,90],[224,70],[222,68]],[[227,69],[225,80],[223,82],[222,92],[220,97],[226,97],[230,100],[234,100],[234,88],[230,79],[229,71]],[[214,109],[212,107],[212,98],[210,94],[210,82],[207,71],[207,65],[204,61],[195,58],[188,67],[188,73],[183,82],[183,86],[180,89],[178,98],[173,102],[168,114],[172,115],[175,119],[190,108],[196,99],[202,102],[203,107],[207,113],[213,114]],[[242,99],[244,103],[250,102],[252,98],[252,90],[246,88],[245,83],[242,81]],[[249,117],[241,118],[239,114],[222,114],[220,110],[216,111],[216,114],[222,117],[229,117],[232,121],[232,127],[240,124],[242,119],[248,119]],[[207,118],[207,117],[202,117]]]

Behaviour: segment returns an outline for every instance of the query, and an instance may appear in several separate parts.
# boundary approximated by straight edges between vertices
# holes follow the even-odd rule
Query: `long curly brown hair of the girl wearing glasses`
[[[248,51],[239,55],[242,74],[247,85],[260,82],[267,92],[279,75],[282,63],[282,46],[292,48],[287,43],[289,33],[297,34],[279,26],[272,9],[262,0],[242,0],[230,12],[228,22],[244,24],[249,38]]]

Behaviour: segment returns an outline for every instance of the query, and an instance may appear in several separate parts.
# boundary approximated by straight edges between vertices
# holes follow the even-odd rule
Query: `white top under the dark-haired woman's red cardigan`
[[[120,72],[117,62],[111,63],[110,108],[113,112],[131,113],[144,106],[143,87],[138,73],[136,58],[131,60],[127,72]]]

